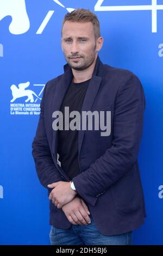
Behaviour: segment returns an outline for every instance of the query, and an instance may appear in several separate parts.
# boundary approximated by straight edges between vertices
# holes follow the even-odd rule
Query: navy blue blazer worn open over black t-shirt
[[[64,70],[45,86],[33,141],[37,175],[46,188],[53,182],[70,181],[57,163],[58,132],[52,129],[52,113],[60,109],[72,80],[68,64]],[[82,111],[111,111],[111,133],[104,137],[101,130],[79,131],[80,174],[73,182],[104,235],[134,230],[146,217],[137,163],[144,110],[145,95],[139,79],[128,70],[104,65],[97,57]],[[64,212],[51,201],[50,224],[71,227]]]

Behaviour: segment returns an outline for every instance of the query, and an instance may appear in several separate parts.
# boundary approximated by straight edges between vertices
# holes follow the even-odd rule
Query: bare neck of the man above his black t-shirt
[[[82,83],[84,81],[89,80],[92,77],[93,70],[95,69],[95,65],[96,65],[96,59],[97,59],[97,56],[94,62],[87,69],[84,69],[84,70],[72,69],[74,83]]]

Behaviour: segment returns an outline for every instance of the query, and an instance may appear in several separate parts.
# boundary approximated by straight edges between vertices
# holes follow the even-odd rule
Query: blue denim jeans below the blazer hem
[[[51,245],[131,245],[132,231],[121,235],[103,235],[96,228],[92,216],[91,224],[72,225],[69,229],[51,227]]]

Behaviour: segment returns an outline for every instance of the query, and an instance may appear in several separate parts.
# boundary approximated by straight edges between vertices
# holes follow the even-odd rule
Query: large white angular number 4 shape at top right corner
[[[121,6],[102,6],[104,0],[98,0],[95,11],[152,11],[152,33],[157,32],[157,11],[163,10],[163,5],[157,4],[157,0],[152,0],[151,5],[121,5]]]

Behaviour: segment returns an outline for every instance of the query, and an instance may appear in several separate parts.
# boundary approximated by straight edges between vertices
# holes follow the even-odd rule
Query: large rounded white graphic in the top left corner
[[[19,35],[26,33],[30,27],[25,0],[0,0],[0,21],[11,16],[9,26],[11,34]]]

